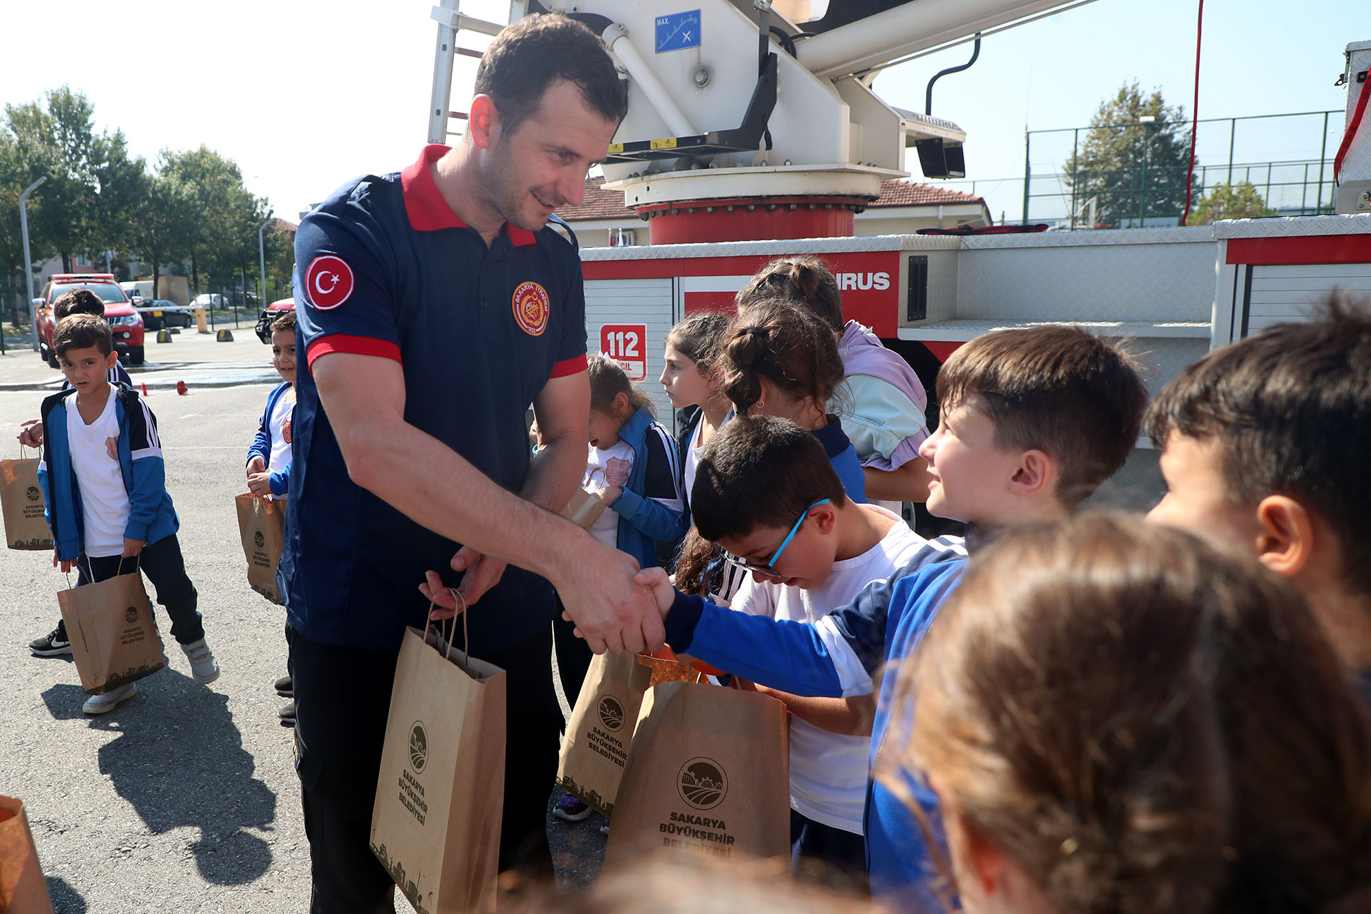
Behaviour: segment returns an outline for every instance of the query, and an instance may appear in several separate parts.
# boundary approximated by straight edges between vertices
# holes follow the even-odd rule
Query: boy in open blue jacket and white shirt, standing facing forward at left
[[[52,565],[77,567],[77,585],[141,569],[171,617],[171,636],[197,682],[219,676],[204,643],[195,585],[185,574],[180,521],[166,492],[158,425],[147,403],[107,373],[118,356],[110,325],[92,315],[63,319],[52,348],[70,389],[43,402],[38,484],[56,543]],[[129,682],[85,703],[103,714],[137,692]]]

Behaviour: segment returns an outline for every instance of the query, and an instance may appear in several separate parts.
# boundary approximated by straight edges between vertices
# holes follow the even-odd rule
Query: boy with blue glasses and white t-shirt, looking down
[[[895,514],[851,502],[824,447],[787,419],[744,415],[720,429],[690,500],[701,536],[751,573],[732,608],[754,615],[817,622],[925,545]],[[791,711],[791,863],[810,858],[864,877],[872,696],[758,691]]]

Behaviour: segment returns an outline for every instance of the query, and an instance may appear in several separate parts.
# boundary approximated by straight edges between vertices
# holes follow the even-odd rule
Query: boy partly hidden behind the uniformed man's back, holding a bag
[[[259,499],[284,502],[291,491],[291,426],[295,417],[295,311],[282,311],[271,323],[271,367],[281,375],[281,384],[271,388],[266,410],[258,425],[256,437],[248,448],[248,491]],[[291,625],[285,626],[285,641],[291,643]],[[291,662],[287,673],[276,681],[276,691],[291,702],[278,715],[295,724],[295,682]]]

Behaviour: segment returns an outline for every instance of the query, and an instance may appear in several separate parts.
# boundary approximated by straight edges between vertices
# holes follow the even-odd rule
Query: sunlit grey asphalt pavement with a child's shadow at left
[[[233,508],[276,373],[247,322],[233,333],[233,343],[217,343],[182,330],[171,344],[149,341],[148,363],[130,367],[158,417],[186,571],[222,669],[217,682],[191,678],[159,608],[167,667],[114,711],[86,717],[70,658],[27,650],[56,623],[66,576],[48,552],[0,549],[0,793],[27,807],[58,914],[308,909],[291,729],[271,688],[285,673],[285,615],[247,585]],[[175,393],[177,381],[186,395]],[[58,386],[37,354],[0,356],[0,458],[19,455],[12,436]],[[550,818],[565,882],[598,873],[602,822]],[[396,903],[409,910],[403,896]]]

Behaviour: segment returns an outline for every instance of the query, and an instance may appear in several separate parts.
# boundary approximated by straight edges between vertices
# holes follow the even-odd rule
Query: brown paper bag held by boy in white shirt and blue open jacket
[[[136,560],[132,574],[58,591],[58,604],[86,693],[104,695],[166,663]]]

